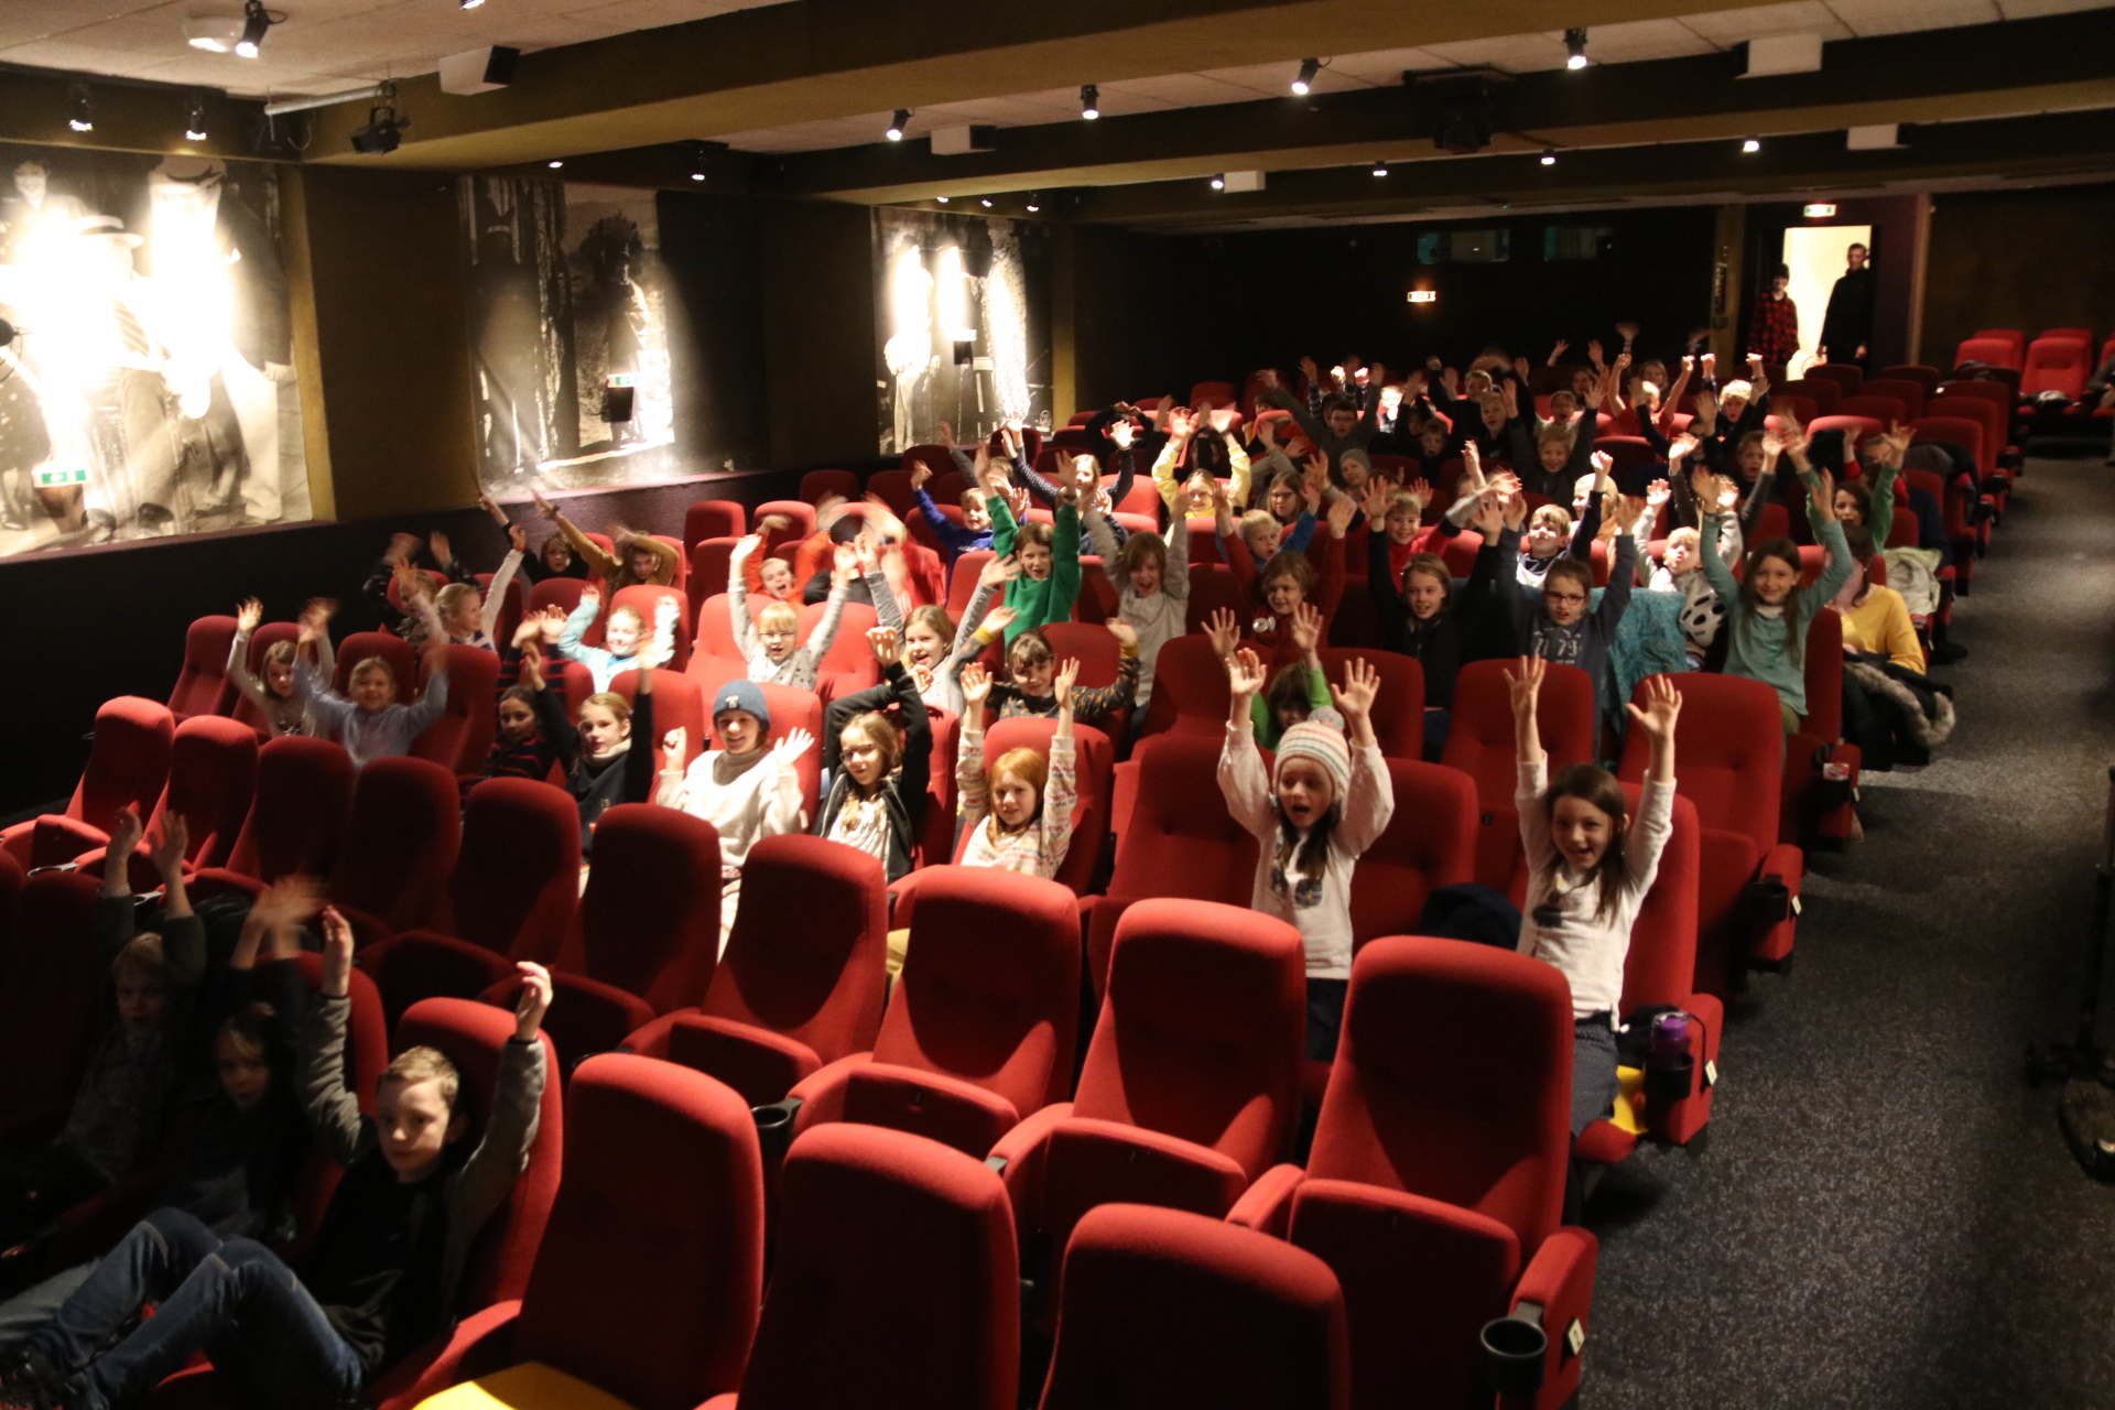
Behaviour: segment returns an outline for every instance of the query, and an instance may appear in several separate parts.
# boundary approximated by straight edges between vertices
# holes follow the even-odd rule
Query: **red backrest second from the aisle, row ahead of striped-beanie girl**
[[[1140,901],[1117,922],[1072,1116],[1208,1146],[1261,1175],[1299,1114],[1301,932],[1248,907]]]

